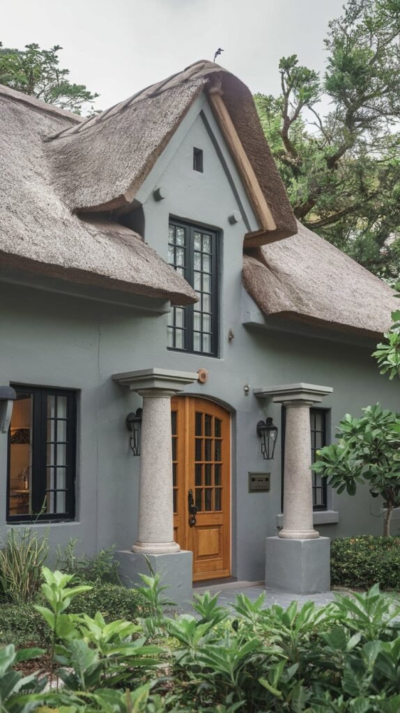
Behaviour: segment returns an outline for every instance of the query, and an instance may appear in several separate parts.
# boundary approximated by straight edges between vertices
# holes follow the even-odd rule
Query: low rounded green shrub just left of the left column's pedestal
[[[89,617],[101,612],[106,622],[116,619],[133,621],[148,613],[144,598],[135,589],[107,583],[97,584],[90,592],[78,595],[68,611],[84,612]]]

